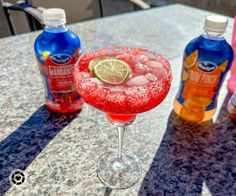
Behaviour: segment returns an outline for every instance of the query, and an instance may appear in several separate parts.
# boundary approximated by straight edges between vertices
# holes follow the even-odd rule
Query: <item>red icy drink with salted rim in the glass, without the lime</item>
[[[95,78],[88,70],[88,65],[99,57],[116,57],[128,63],[132,70],[130,78],[117,86]],[[171,80],[168,61],[156,53],[139,48],[114,47],[87,53],[81,56],[74,70],[76,89],[85,102],[109,113],[108,118],[115,121],[130,120],[136,114],[159,105],[169,91]]]

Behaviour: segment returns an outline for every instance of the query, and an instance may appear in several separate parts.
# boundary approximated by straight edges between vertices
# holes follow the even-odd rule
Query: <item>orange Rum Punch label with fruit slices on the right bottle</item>
[[[184,58],[180,93],[177,100],[184,108],[204,113],[216,107],[216,98],[228,67],[228,60],[216,64],[199,58],[198,50]]]

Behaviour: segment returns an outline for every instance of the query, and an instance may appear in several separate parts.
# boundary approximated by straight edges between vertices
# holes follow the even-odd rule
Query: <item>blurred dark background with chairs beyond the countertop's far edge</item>
[[[31,14],[25,12],[27,6],[39,12],[43,8],[63,8],[70,24],[175,3],[231,17],[236,13],[236,0],[0,0],[0,38],[41,28],[30,18]],[[34,10],[32,12],[34,14]]]

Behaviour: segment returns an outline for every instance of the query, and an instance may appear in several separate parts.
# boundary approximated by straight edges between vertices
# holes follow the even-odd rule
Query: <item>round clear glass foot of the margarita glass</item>
[[[129,155],[123,155],[122,161],[117,153],[106,153],[98,162],[98,177],[112,189],[125,189],[133,186],[140,179],[141,166],[138,161]]]

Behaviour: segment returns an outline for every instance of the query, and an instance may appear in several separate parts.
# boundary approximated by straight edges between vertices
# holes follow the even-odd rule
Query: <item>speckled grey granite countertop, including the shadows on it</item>
[[[0,195],[236,195],[236,124],[226,112],[225,86],[212,122],[187,123],[172,111],[182,52],[209,14],[171,5],[69,26],[84,51],[139,46],[159,51],[172,65],[167,98],[126,132],[124,148],[139,157],[143,169],[139,183],[126,190],[111,190],[96,175],[99,156],[117,148],[115,128],[104,115],[87,105],[68,115],[43,105],[33,52],[39,32],[0,39]],[[25,171],[25,183],[10,184],[13,169]]]

